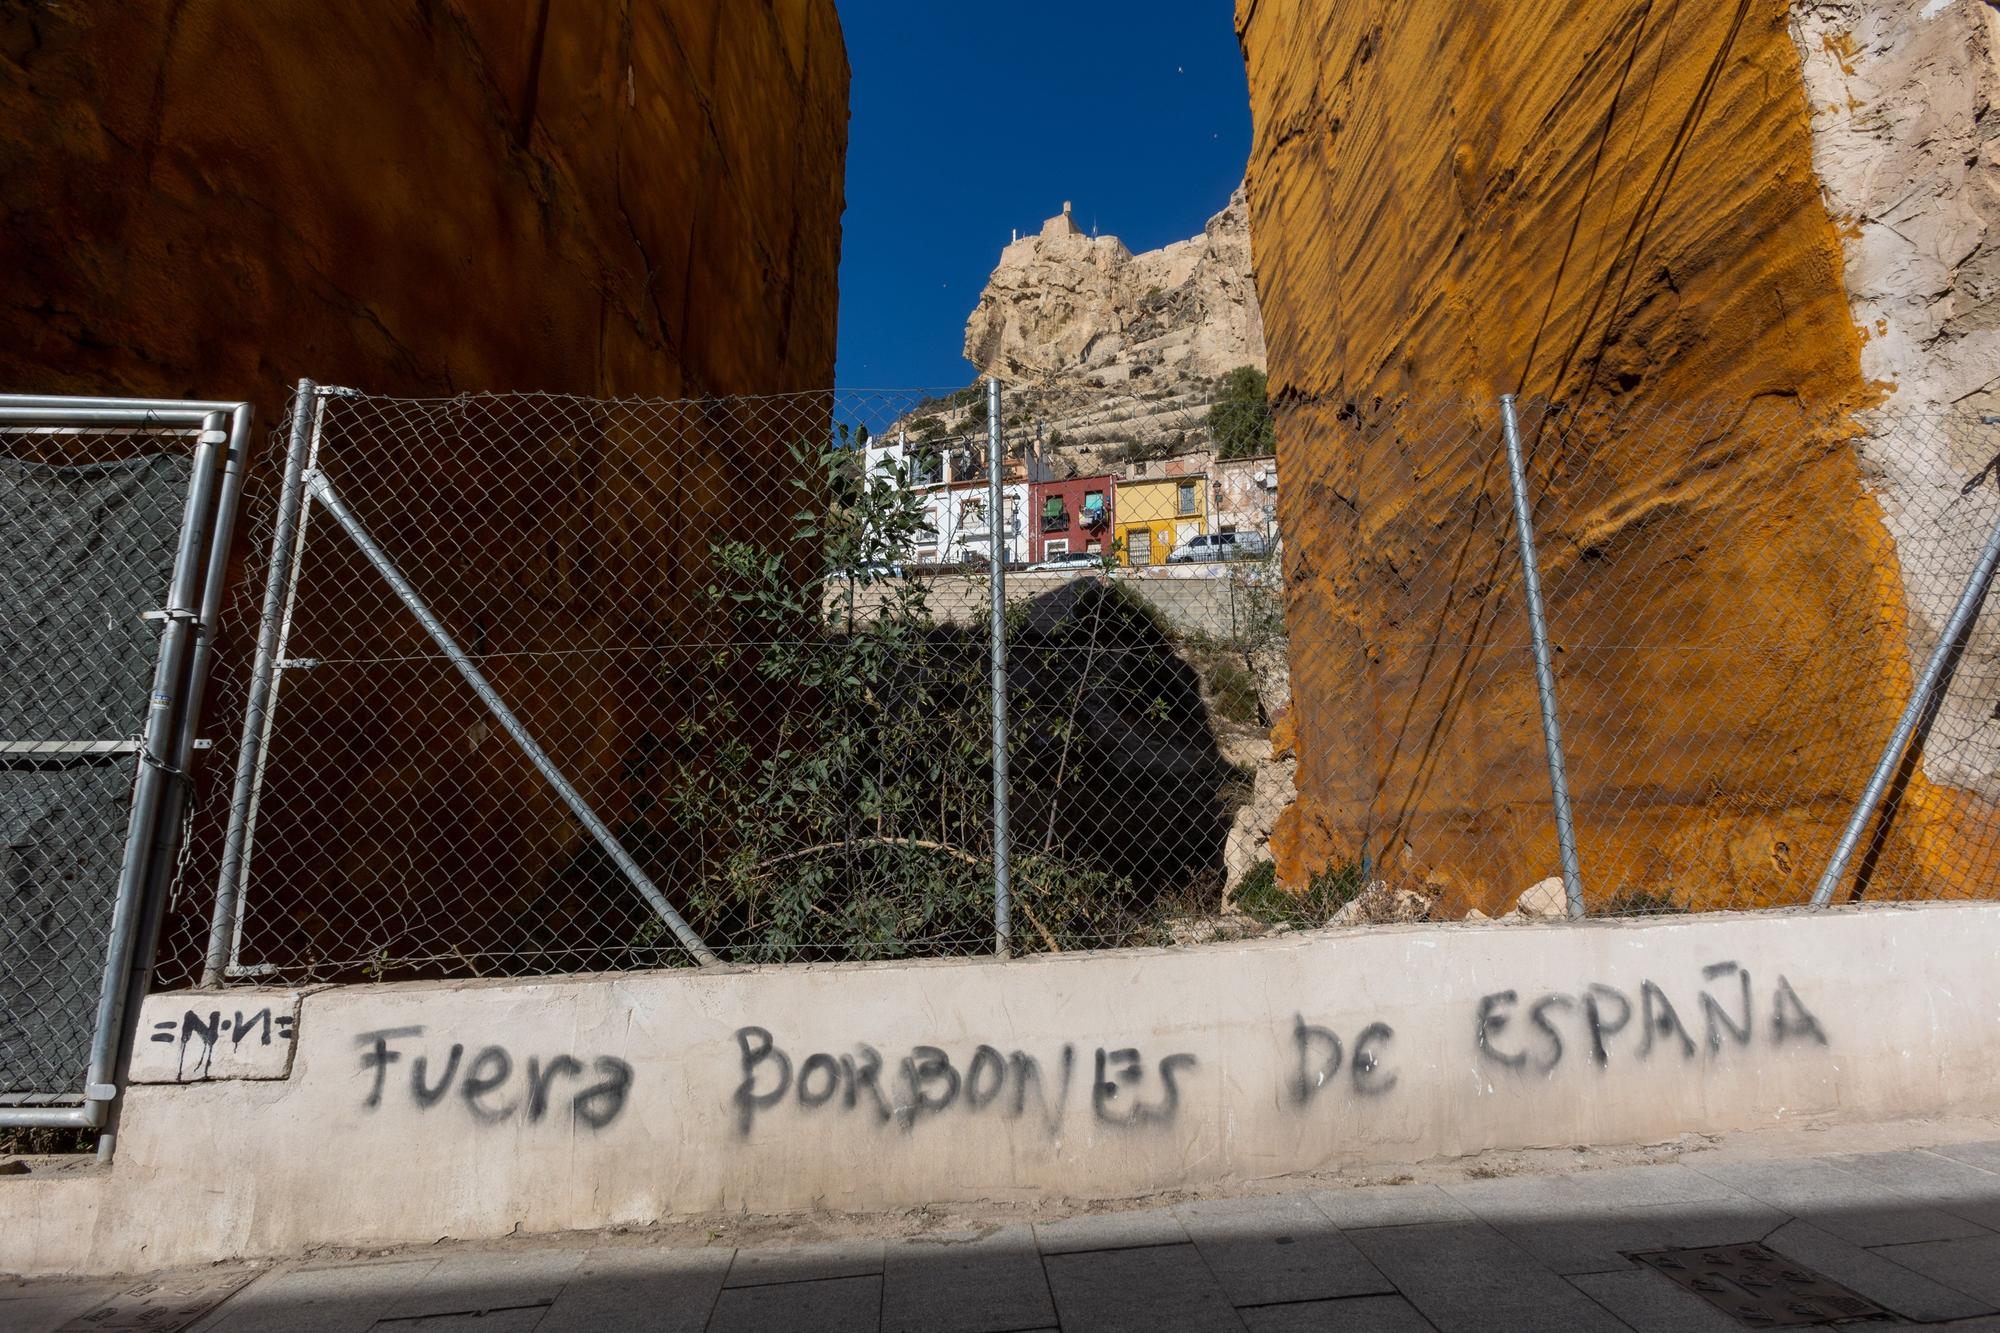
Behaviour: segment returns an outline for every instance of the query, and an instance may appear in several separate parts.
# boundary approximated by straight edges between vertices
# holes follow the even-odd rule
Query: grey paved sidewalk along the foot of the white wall
[[[146,1281],[0,1281],[0,1329],[1726,1333],[1872,1313],[1820,1287],[1818,1303],[1790,1311],[1802,1323],[1742,1321],[1644,1259],[1710,1247],[1706,1259],[1732,1263],[1762,1243],[1780,1285],[1822,1277],[1886,1311],[1842,1327],[2000,1331],[2000,1139],[1864,1151],[1880,1147],[1880,1135],[1844,1137],[1818,1135],[1814,1155],[1796,1145],[1774,1155],[1690,1151],[1660,1165],[1524,1175],[1470,1163],[1398,1185],[900,1237],[544,1237]],[[1694,1281],[1738,1307],[1760,1297],[1766,1309],[1786,1307],[1760,1277]]]

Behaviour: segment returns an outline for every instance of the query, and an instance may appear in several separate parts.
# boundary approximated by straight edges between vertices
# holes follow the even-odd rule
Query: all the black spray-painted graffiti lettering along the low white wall
[[[1760,1007],[1764,995],[1770,999]],[[1682,991],[1680,999],[1690,997]],[[1610,1069],[1652,1059],[1692,1061],[1704,1051],[1724,1057],[1756,1043],[1828,1045],[1818,1017],[1784,975],[1764,989],[1740,963],[1710,963],[1692,1001],[1676,1005],[1652,979],[1636,989],[1592,981],[1574,993],[1492,991],[1472,1011],[1468,1035],[1480,1063],[1540,1075],[1574,1053],[1586,1057],[1586,1069]],[[242,1027],[238,1017],[236,1029]],[[214,1043],[220,1019],[196,1031]],[[174,1037],[154,1037],[162,1039]],[[1280,1041],[1288,1051],[1280,1103],[1294,1111],[1328,1099],[1370,1101],[1398,1089],[1398,1037],[1388,1023],[1336,1031],[1292,1015]],[[482,1125],[538,1125],[566,1113],[596,1131],[612,1125],[632,1099],[632,1065],[614,1055],[586,1061],[572,1053],[516,1057],[500,1043],[442,1047],[424,1043],[416,1025],[358,1033],[354,1043],[368,1111],[392,1101],[416,1111],[458,1105]],[[1138,1047],[1068,1041],[1046,1055],[986,1043],[958,1053],[916,1045],[894,1055],[854,1043],[846,1051],[796,1055],[770,1029],[740,1027],[732,1047],[736,1083],[724,1095],[740,1137],[780,1107],[902,1131],[946,1113],[1020,1121],[1048,1135],[1058,1135],[1072,1113],[1114,1129],[1162,1127],[1180,1117],[1188,1081],[1202,1073],[1188,1051],[1150,1057]]]

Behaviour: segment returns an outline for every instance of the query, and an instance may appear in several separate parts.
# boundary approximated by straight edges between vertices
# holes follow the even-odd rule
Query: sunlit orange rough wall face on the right
[[[1878,394],[1782,0],[1238,0],[1286,486],[1298,885],[1556,873],[1524,408],[1588,897],[1798,901],[1908,695]],[[1924,893],[1912,777],[1870,897]]]

